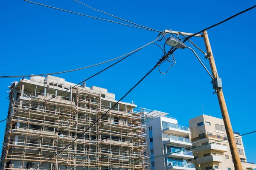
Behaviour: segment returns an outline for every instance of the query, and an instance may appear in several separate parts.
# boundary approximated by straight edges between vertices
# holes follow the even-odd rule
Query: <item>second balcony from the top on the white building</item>
[[[167,143],[179,145],[181,147],[192,146],[190,139],[186,139],[180,136],[173,136],[173,135],[163,137],[163,144],[167,144]]]

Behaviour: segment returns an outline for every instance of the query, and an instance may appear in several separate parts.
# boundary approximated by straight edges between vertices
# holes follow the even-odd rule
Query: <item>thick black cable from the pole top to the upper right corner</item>
[[[185,40],[183,40],[183,42],[186,42],[189,38],[194,37],[196,34],[200,34],[200,33],[204,32],[204,31],[206,31],[206,30],[208,30],[208,29],[210,29],[210,28],[213,28],[213,27],[218,26],[218,25],[220,25],[220,24],[222,24],[222,23],[225,23],[226,21],[231,20],[232,18],[234,18],[234,17],[236,17],[236,16],[238,16],[238,15],[240,15],[240,14],[243,14],[244,12],[250,11],[251,9],[253,9],[253,8],[255,8],[255,7],[256,7],[256,5],[255,5],[255,6],[252,6],[252,7],[250,7],[250,8],[247,8],[247,9],[245,9],[244,11],[241,11],[241,12],[235,14],[235,15],[232,15],[231,17],[227,18],[226,20],[223,20],[223,21],[221,21],[221,22],[219,22],[219,23],[216,23],[216,24],[214,24],[214,25],[212,25],[212,26],[209,26],[208,28],[205,28],[205,29],[203,29],[203,30],[201,30],[201,31],[199,31],[199,32],[197,32],[197,33],[195,33],[195,34],[193,34],[193,35],[190,35],[190,36],[186,37]],[[177,48],[171,48],[171,49],[169,50],[168,54],[172,54],[172,53],[173,53],[174,51],[176,51],[176,50],[177,50]]]

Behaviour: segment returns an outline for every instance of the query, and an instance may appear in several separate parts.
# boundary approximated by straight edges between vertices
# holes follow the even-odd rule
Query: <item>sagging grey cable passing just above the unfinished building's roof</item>
[[[144,46],[143,46],[144,47]],[[141,47],[141,48],[143,48]],[[141,49],[139,48],[139,49]],[[134,51],[137,51],[137,50],[134,50]],[[97,64],[94,64],[94,65],[89,65],[89,66],[86,66],[86,67],[82,67],[82,68],[76,68],[76,69],[73,69],[73,70],[68,70],[68,71],[60,71],[60,72],[55,72],[55,73],[48,73],[48,74],[35,74],[35,75],[23,75],[23,76],[0,76],[0,78],[16,78],[16,77],[35,77],[35,76],[47,76],[47,75],[53,75],[53,74],[62,74],[62,73],[68,73],[68,72],[72,72],[72,71],[78,71],[78,70],[82,70],[82,69],[85,69],[85,68],[90,68],[90,67],[94,67],[94,66],[97,66],[97,65],[101,65],[101,64],[105,64],[107,62],[111,62],[113,60],[116,60],[116,59],[119,59],[119,58],[122,58],[128,54],[131,54],[133,53],[134,51],[131,51],[127,54],[124,54],[122,56],[119,56],[119,57],[116,57],[116,58],[113,58],[113,59],[110,59],[110,60],[107,60],[107,61],[104,61],[104,62],[100,62],[100,63],[97,63]]]

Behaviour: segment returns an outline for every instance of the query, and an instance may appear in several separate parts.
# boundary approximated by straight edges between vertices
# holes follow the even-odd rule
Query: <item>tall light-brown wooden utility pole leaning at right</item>
[[[206,51],[207,51],[208,58],[209,58],[209,63],[210,63],[211,69],[212,69],[212,77],[215,79],[215,78],[218,78],[218,72],[217,72],[215,61],[214,61],[214,58],[212,55],[212,48],[211,48],[211,45],[209,42],[207,31],[203,32],[203,37],[204,37],[204,44],[206,47]],[[215,92],[218,95],[218,101],[219,101],[219,104],[221,107],[221,113],[222,113],[225,129],[227,132],[227,139],[228,139],[228,142],[230,145],[230,151],[231,151],[233,163],[235,166],[235,170],[243,170],[241,160],[239,157],[239,153],[237,150],[237,146],[236,146],[234,133],[233,133],[231,122],[230,122],[230,117],[227,112],[227,105],[226,105],[226,102],[224,99],[223,91],[222,91],[222,89],[220,89],[220,90],[215,90]]]

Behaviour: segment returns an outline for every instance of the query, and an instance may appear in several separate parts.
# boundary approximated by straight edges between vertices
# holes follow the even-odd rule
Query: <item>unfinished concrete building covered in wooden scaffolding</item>
[[[107,89],[74,85],[53,76],[12,83],[2,169],[35,169],[47,160],[38,169],[146,169],[145,118],[137,106],[119,102],[82,134],[117,101]]]

